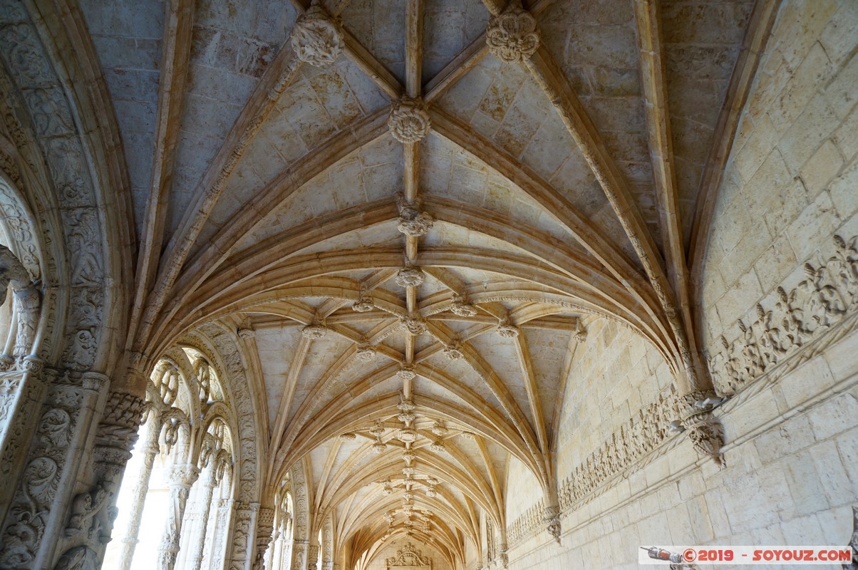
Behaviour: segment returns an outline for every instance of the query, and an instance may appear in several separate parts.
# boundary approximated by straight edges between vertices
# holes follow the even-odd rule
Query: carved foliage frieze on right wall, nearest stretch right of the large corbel
[[[776,289],[774,306],[757,305],[756,319],[737,321],[740,336],[710,358],[716,389],[733,395],[789,360],[858,309],[858,236],[834,236],[835,252],[825,263],[804,264],[807,278],[789,293]]]

